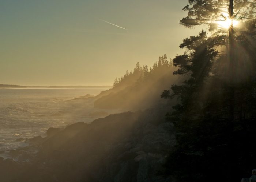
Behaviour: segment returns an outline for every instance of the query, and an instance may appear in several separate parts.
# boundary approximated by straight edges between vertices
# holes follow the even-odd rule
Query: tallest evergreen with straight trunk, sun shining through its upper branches
[[[245,95],[239,92],[248,80],[251,80],[252,84],[256,75],[255,1],[189,0],[189,4],[184,7],[184,10],[188,11],[188,16],[180,21],[181,24],[186,27],[208,25],[211,38],[218,40],[215,49],[226,47],[227,51],[221,52],[221,61],[219,59],[215,63],[219,67],[212,68],[212,72],[215,77],[218,76],[225,82],[228,93],[229,119],[240,118],[241,121],[241,113],[244,112],[241,98],[244,98]],[[236,22],[240,26],[234,26]],[[220,71],[220,67],[222,71]]]

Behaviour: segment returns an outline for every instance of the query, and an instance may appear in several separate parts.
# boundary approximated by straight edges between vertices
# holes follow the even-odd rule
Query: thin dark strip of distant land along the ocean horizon
[[[112,88],[109,85],[103,86],[88,86],[88,85],[79,85],[79,86],[22,86],[22,85],[7,85],[0,84],[0,88]]]

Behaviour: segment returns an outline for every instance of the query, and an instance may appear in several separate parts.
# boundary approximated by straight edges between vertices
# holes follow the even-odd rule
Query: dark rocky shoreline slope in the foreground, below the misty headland
[[[49,128],[47,137],[0,158],[3,181],[172,181],[159,175],[175,145],[165,111],[125,112]]]

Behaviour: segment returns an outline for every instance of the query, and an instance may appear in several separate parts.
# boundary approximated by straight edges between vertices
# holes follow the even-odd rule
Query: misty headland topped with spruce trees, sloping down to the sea
[[[160,98],[162,91],[177,83],[178,77],[173,75],[175,69],[167,55],[159,57],[150,68],[147,65],[141,67],[138,62],[133,71],[126,71],[123,77],[115,79],[112,89],[99,94],[94,106],[132,111],[159,106],[166,102]]]

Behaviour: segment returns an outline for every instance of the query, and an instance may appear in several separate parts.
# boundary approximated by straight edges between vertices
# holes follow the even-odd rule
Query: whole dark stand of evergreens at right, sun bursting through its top
[[[255,168],[255,8],[240,0],[189,0],[184,8],[181,24],[208,25],[211,36],[201,31],[183,40],[186,52],[173,66],[187,79],[161,95],[180,100],[167,115],[177,146],[166,167],[178,181],[239,181]],[[218,23],[226,19],[228,29]],[[235,19],[244,26],[233,26]]]

